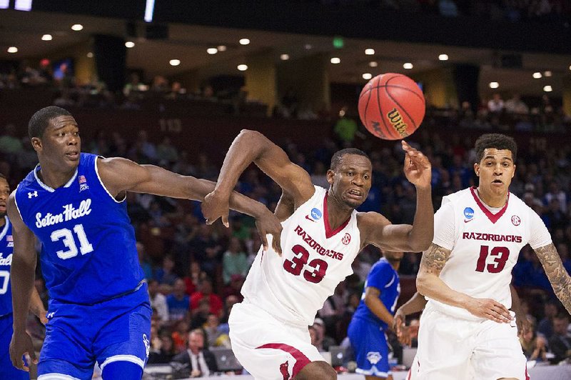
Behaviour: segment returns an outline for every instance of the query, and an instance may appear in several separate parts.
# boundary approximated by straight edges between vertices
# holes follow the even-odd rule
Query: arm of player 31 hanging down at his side
[[[14,236],[14,253],[10,269],[14,333],[10,342],[10,358],[16,368],[29,371],[29,368],[24,366],[22,355],[28,353],[34,363],[37,363],[34,345],[26,333],[26,318],[30,309],[30,299],[34,294],[36,249],[34,234],[22,221],[14,196],[15,191],[8,199],[8,217]]]

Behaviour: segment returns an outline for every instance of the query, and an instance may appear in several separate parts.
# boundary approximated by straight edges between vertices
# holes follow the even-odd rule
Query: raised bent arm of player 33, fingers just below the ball
[[[377,213],[363,215],[361,224],[366,239],[364,244],[373,244],[390,251],[420,252],[433,241],[434,209],[430,179],[432,166],[422,152],[402,141],[405,150],[404,171],[406,178],[416,186],[416,212],[413,225],[390,224]]]

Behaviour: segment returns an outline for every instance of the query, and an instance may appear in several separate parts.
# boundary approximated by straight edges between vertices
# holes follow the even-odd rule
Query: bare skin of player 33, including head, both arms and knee
[[[433,237],[433,204],[430,195],[430,162],[403,141],[405,175],[417,189],[417,208],[413,225],[391,224],[385,216],[359,213],[361,247],[373,244],[388,251],[422,251]],[[301,204],[308,201],[315,188],[307,171],[293,164],[281,149],[257,131],[243,130],[234,139],[218,176],[216,189],[202,204],[207,223],[216,219],[228,220],[228,195],[240,175],[251,164],[281,186],[282,198],[276,209],[278,219],[285,220]],[[328,218],[332,229],[343,224],[353,210],[363,204],[371,186],[372,166],[365,156],[345,154],[335,168],[328,170]],[[280,241],[273,240],[273,249],[281,253]],[[335,371],[322,361],[306,365],[296,379],[335,379]]]

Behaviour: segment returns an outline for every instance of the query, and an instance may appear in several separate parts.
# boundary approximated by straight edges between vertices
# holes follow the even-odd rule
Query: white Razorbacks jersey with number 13
[[[517,196],[508,194],[505,206],[493,213],[475,188],[445,196],[434,226],[433,243],[452,251],[440,279],[455,291],[495,299],[508,309],[512,269],[520,250],[527,243],[533,249],[551,243],[540,217]],[[446,314],[480,319],[466,309],[429,302]]]

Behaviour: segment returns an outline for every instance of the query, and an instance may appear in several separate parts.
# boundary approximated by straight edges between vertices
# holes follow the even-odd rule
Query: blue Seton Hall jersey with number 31
[[[143,279],[126,202],[103,186],[97,159],[82,153],[76,173],[58,189],[39,179],[36,166],[16,189],[22,220],[41,241],[51,299],[95,304],[133,291]]]

